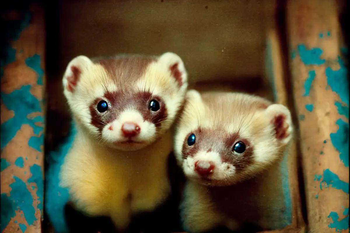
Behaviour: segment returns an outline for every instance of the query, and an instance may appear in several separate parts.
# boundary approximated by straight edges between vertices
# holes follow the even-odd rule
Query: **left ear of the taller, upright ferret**
[[[73,93],[84,70],[92,65],[92,61],[86,56],[73,58],[69,63],[63,75],[63,88]]]

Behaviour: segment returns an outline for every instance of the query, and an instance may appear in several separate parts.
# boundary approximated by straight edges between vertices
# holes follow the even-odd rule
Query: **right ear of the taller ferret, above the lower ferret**
[[[182,59],[175,53],[166,52],[159,57],[159,63],[165,66],[171,73],[172,77],[181,87],[187,83],[187,71]]]

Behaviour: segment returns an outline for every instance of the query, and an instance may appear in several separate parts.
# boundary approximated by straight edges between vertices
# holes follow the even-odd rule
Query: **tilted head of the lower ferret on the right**
[[[242,93],[189,90],[174,152],[184,174],[205,185],[232,185],[282,157],[292,138],[289,110]]]

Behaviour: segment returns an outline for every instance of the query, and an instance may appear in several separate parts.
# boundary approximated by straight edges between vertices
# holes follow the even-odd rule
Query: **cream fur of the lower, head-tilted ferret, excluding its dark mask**
[[[191,233],[208,231],[218,225],[238,230],[243,223],[219,212],[215,203],[210,199],[209,189],[212,188],[211,186],[235,185],[257,177],[258,174],[265,170],[268,171],[273,166],[278,166],[277,161],[282,158],[292,138],[293,126],[290,112],[281,104],[272,104],[260,97],[247,94],[211,92],[201,95],[195,90],[189,90],[186,99],[187,102],[176,125],[174,137],[176,159],[189,179],[185,185],[181,204],[183,226]],[[258,108],[261,104],[268,107]],[[288,132],[290,133],[289,137],[282,140],[274,136],[274,127],[271,123],[274,116],[279,114],[286,116],[285,124],[289,125]],[[198,127],[214,131],[224,130],[219,131],[223,134],[231,134],[239,130],[240,136],[249,139],[254,147],[253,163],[243,172],[237,173],[235,167],[228,167],[227,163],[221,161],[219,154],[215,151],[215,146],[211,152],[199,148],[193,157],[183,159],[183,143],[186,143],[188,134]],[[211,161],[215,164],[211,182],[198,179],[199,176],[194,172],[196,160]],[[244,192],[244,190],[241,191]],[[239,202],[239,200],[228,201]],[[258,219],[250,220],[259,221]]]

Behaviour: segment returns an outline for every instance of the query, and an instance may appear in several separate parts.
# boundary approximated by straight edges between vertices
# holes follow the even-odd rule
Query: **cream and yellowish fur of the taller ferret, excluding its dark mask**
[[[169,71],[169,66],[175,63],[179,63],[182,72],[180,88]],[[72,75],[71,66],[77,66],[81,71],[73,92],[66,88],[67,78]],[[123,80],[116,82],[102,65],[85,56],[78,56],[68,64],[62,84],[77,135],[61,168],[61,186],[70,189],[70,197],[79,210],[91,216],[110,216],[116,227],[124,230],[133,214],[154,210],[169,195],[167,159],[173,150],[173,130],[170,128],[188,84],[181,58],[174,53],[163,54],[130,86],[135,92],[148,90],[162,97],[167,118],[161,127],[156,128],[145,121],[135,108],[130,107],[105,125],[100,136],[98,129],[90,123],[89,105],[102,98],[105,90],[118,91],[118,82]],[[124,140],[121,125],[128,121],[140,126],[135,141],[142,143],[119,145]],[[110,126],[113,130],[109,130]]]

